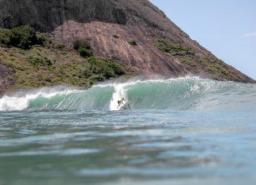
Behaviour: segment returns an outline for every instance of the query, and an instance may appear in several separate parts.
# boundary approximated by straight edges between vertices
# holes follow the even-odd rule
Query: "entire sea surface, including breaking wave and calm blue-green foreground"
[[[255,85],[194,78],[13,94],[0,184],[255,184],[255,108]]]

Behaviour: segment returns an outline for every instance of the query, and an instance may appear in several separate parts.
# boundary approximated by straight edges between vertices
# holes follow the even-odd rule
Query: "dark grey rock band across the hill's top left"
[[[66,20],[126,24],[126,13],[115,0],[1,0],[0,7],[2,28],[30,24],[40,31],[53,31]]]

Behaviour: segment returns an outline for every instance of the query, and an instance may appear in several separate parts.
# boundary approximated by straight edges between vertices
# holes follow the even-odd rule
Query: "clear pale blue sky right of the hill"
[[[149,0],[191,39],[256,80],[256,0]]]

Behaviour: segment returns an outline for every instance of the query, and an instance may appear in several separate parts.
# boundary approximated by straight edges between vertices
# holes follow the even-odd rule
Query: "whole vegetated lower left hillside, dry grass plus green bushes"
[[[43,44],[33,45],[34,43],[31,42],[27,49],[24,45],[9,44],[11,43],[9,35],[13,34],[12,31],[0,29],[1,65],[8,68],[9,74],[16,81],[12,87],[9,87],[9,91],[59,83],[88,88],[98,81],[134,72],[112,59],[92,57],[88,40],[75,42],[73,48],[76,50],[74,50],[52,38],[50,34],[37,32],[37,41],[43,41]],[[21,38],[25,37],[21,36]],[[27,38],[33,40],[32,37]]]

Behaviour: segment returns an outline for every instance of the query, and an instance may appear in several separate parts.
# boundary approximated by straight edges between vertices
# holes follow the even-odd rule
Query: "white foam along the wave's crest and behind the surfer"
[[[176,79],[151,79],[151,80],[145,80],[145,79],[131,79],[126,82],[120,82],[119,80],[116,81],[107,81],[101,84],[98,84],[94,87],[114,87],[115,92],[112,94],[111,100],[107,100],[107,104],[109,103],[109,110],[118,110],[118,99],[119,98],[125,98],[128,101],[127,97],[127,88],[130,86],[134,86],[141,83],[172,83],[173,81],[180,81],[180,80],[196,80],[200,83],[204,84],[204,93],[208,93],[214,91],[215,83],[216,81],[213,80],[202,80],[198,77],[194,76],[186,76]],[[218,82],[219,84],[220,82]],[[221,84],[221,83],[220,83]],[[92,87],[93,88],[93,87]],[[194,84],[193,87],[190,87],[190,91],[186,94],[187,96],[190,96],[192,93],[198,93],[200,91],[200,86],[198,86],[198,83]],[[55,87],[42,87],[34,90],[29,91],[18,91],[15,94],[12,95],[6,95],[0,99],[0,111],[9,111],[9,110],[24,110],[28,109],[30,102],[35,100],[36,98],[48,98],[51,99],[52,97],[55,97],[56,95],[62,95],[62,94],[72,94],[77,93],[81,91],[77,91],[75,87],[67,87],[67,86],[55,86]],[[82,96],[82,95],[81,95]],[[85,96],[86,97],[86,96]],[[93,97],[93,94],[92,94]],[[186,97],[184,97],[186,98]],[[90,102],[96,101],[94,99],[89,100]],[[130,100],[131,101],[131,100]],[[69,97],[64,97],[64,99],[60,100],[58,102],[58,105],[55,106],[54,109],[61,109],[65,103],[72,103],[70,102]],[[46,102],[47,103],[47,102]],[[85,103],[84,103],[85,104]],[[84,105],[83,104],[83,105]],[[93,102],[92,102],[93,104]],[[107,105],[106,105],[107,106]],[[65,106],[66,107],[66,106]],[[95,109],[95,108],[92,108]]]

